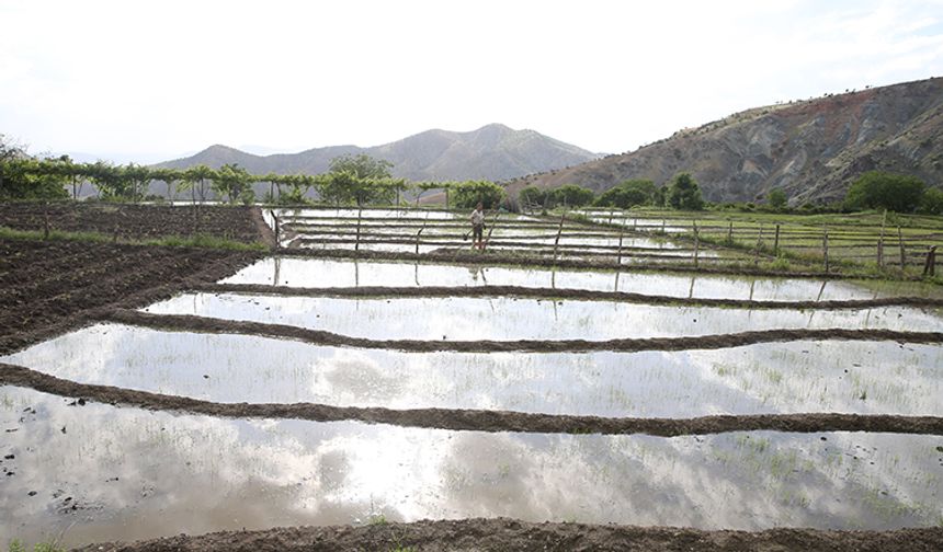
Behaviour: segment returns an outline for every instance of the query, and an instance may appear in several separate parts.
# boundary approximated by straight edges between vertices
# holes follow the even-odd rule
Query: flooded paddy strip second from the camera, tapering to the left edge
[[[226,403],[694,417],[943,416],[941,359],[939,345],[839,341],[673,353],[407,353],[99,324],[0,361]]]

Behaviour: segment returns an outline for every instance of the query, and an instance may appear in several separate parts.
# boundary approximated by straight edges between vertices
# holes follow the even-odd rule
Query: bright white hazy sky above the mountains
[[[489,123],[623,152],[943,76],[943,0],[0,0],[0,134],[154,162]]]

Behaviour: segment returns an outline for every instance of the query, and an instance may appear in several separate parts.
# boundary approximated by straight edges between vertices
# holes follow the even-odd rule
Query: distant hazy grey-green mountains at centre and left
[[[167,161],[157,166],[183,169],[202,163],[218,168],[226,163],[239,163],[254,174],[317,174],[328,170],[331,159],[345,153],[367,153],[386,159],[394,163],[394,175],[414,181],[501,181],[598,158],[594,153],[534,130],[514,130],[495,124],[470,133],[427,130],[373,148],[334,146],[274,156],[254,156],[226,146],[212,146],[193,157]]]

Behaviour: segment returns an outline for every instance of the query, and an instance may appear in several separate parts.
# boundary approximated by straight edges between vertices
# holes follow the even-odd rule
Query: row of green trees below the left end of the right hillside
[[[628,180],[597,196],[592,189],[565,184],[553,189],[527,186],[518,195],[525,207],[617,207],[628,209],[636,205],[701,210],[704,198],[701,187],[689,173],[677,174],[671,182],[657,186],[649,180]]]

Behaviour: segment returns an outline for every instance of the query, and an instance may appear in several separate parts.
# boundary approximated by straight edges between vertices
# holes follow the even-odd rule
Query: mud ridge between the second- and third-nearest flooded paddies
[[[776,343],[787,341],[894,341],[900,343],[943,343],[939,332],[898,332],[894,330],[764,330],[735,334],[698,335],[688,337],[647,337],[604,341],[587,340],[515,340],[515,341],[424,341],[424,340],[371,340],[352,337],[322,330],[309,330],[285,324],[266,324],[242,320],[224,320],[190,314],[151,314],[127,309],[100,311],[102,322],[118,322],[127,325],[180,332],[258,335],[295,340],[303,343],[331,346],[348,346],[372,349],[396,349],[418,353],[454,350],[459,353],[582,353],[589,350],[615,350],[636,353],[640,350],[689,350],[718,349]]]

